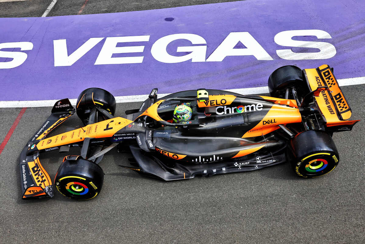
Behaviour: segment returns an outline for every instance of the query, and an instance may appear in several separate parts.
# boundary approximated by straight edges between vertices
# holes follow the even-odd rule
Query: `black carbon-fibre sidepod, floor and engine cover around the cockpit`
[[[191,124],[182,127],[163,126],[148,130],[150,118],[137,118],[153,101],[147,99],[143,102],[139,113],[133,116],[133,119],[138,121],[137,127],[124,127],[115,135],[129,135],[137,139],[137,145],[130,146],[137,165],[123,167],[160,179],[174,180],[192,178],[195,175],[251,171],[286,160],[287,142],[283,137],[270,133],[265,136],[242,138],[243,134],[262,121],[272,108],[272,102],[260,96],[242,96],[219,90],[207,91],[210,95],[233,95],[236,98],[227,106],[216,106],[216,113],[212,114],[207,114],[197,107],[194,96],[196,91],[178,92],[161,98],[167,101],[161,103],[157,111],[161,118],[166,120],[176,105],[189,103],[193,118]],[[237,106],[249,106],[248,111],[234,111]],[[193,126],[194,124],[197,126]],[[148,145],[149,140],[151,145]],[[124,145],[130,144],[123,139],[120,141],[124,141]],[[120,151],[125,151],[125,146],[122,145],[119,147]],[[235,157],[240,151],[253,148],[260,149],[249,155]],[[184,158],[176,160],[181,155],[184,155]]]

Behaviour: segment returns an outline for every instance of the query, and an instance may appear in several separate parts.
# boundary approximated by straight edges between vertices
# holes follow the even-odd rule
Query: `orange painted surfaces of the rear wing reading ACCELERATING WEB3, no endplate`
[[[320,95],[315,97],[320,111],[324,118],[326,118],[326,125],[341,125],[341,120],[336,114],[336,107],[340,112],[342,119],[349,119],[351,116],[350,106],[347,104],[330,67],[328,65],[322,65],[319,69],[322,70],[320,71],[320,74],[317,69],[305,69],[309,85],[312,91],[319,86],[328,86],[334,99],[336,100],[336,98],[339,98],[337,99],[338,103],[334,104],[329,91],[321,91]],[[325,80],[325,82],[323,82],[322,79]]]

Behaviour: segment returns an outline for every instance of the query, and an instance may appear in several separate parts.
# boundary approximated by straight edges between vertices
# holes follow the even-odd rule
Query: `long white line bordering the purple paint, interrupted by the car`
[[[355,78],[347,78],[347,79],[338,79],[338,84],[340,87],[346,85],[360,85],[365,84],[365,76],[364,77],[355,77]],[[249,95],[249,94],[261,94],[268,93],[268,87],[252,87],[252,88],[241,88],[241,89],[227,89],[226,91],[236,92],[238,94]],[[169,95],[166,94],[158,94],[160,98],[163,96]],[[346,94],[345,94],[346,95]],[[130,103],[130,102],[143,102],[148,98],[147,95],[133,95],[133,96],[116,96],[115,100],[117,103]],[[52,107],[55,102],[59,99],[54,100],[36,100],[36,101],[0,101],[0,108],[18,108],[18,107]],[[72,105],[76,105],[76,98],[70,99]]]

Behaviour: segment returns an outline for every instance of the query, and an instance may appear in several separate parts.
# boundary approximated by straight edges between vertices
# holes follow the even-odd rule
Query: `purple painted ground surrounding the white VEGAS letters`
[[[338,79],[365,76],[364,9],[363,1],[248,0],[113,14],[3,18],[0,19],[0,43],[32,42],[34,47],[23,51],[28,57],[22,65],[0,69],[0,100],[76,98],[87,87],[101,87],[115,96],[147,94],[154,87],[159,88],[159,93],[201,87],[260,87],[267,84],[274,69],[288,64],[301,68],[329,64],[334,67]],[[166,21],[165,18],[174,19]],[[293,39],[331,43],[337,52],[334,57],[325,60],[278,57],[276,50],[290,47],[274,42],[277,33],[310,29],[326,31],[332,38]],[[230,56],[221,62],[166,64],[151,55],[151,46],[157,39],[170,34],[192,33],[207,41],[206,57],[209,57],[230,32],[244,31],[249,32],[273,60]],[[113,57],[144,56],[142,63],[94,65],[104,38],[73,65],[54,66],[53,40],[66,39],[70,54],[89,38],[134,35],[150,35],[148,42],[124,44],[145,45],[143,53],[114,54]],[[191,45],[189,41],[178,40],[170,43],[167,50],[181,56],[176,53],[178,46]],[[244,48],[240,44],[236,47]],[[316,49],[292,50],[316,52]],[[10,60],[0,57],[0,62]]]

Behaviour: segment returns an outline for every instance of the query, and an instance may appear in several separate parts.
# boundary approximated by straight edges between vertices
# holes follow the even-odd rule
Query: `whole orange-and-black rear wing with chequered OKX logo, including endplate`
[[[316,69],[304,69],[303,73],[311,91],[328,87],[315,96],[315,103],[326,126],[334,126],[334,131],[351,130],[359,120],[347,120],[351,117],[351,107],[333,75],[333,69],[321,65]]]

